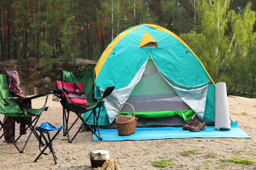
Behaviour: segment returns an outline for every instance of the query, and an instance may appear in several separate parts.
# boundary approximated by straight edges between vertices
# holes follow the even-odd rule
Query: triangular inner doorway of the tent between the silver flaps
[[[157,71],[152,59],[148,59],[140,81],[134,87],[126,102],[133,105],[135,112],[143,117],[153,116],[162,118],[167,115],[170,117],[175,116],[175,112],[179,110],[180,114],[177,115],[184,118],[181,111],[191,110]],[[130,109],[131,108],[124,105],[121,112],[129,113],[131,112]],[[187,121],[186,118],[184,118],[184,120]]]

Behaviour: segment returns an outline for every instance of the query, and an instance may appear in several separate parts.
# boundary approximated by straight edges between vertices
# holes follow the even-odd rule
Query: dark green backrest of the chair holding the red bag
[[[85,71],[80,71],[76,73],[71,73],[69,71],[61,71],[61,81],[63,82],[81,82],[84,88],[84,96],[87,97],[87,102],[97,102],[94,98],[94,81],[95,81],[95,70],[89,69]]]

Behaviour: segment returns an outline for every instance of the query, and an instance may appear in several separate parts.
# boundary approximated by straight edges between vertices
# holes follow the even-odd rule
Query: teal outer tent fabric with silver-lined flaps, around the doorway
[[[190,90],[198,94],[191,96],[191,93],[186,88],[184,88],[184,93],[182,92],[182,94],[189,95],[190,98],[195,98],[195,101],[198,101],[198,104],[201,105],[200,111],[197,109],[195,102],[187,100],[188,97],[185,97],[185,99],[182,97],[184,95],[180,94],[180,91],[173,89],[177,96],[188,105],[189,108],[187,109],[193,109],[200,119],[206,122],[214,122],[215,85],[200,60],[177,37],[163,31],[164,28],[157,29],[146,24],[132,28],[136,29],[126,34],[117,43],[115,40],[118,37],[111,42],[109,46],[112,43],[115,43],[115,45],[96,77],[95,84],[97,87],[95,88],[95,94],[97,96],[103,94],[104,91],[102,89],[115,86],[113,93],[105,99],[105,107],[101,111],[102,121],[100,125],[110,125],[118,114],[119,106],[129,99],[136,85],[140,85],[138,83],[142,79],[149,56],[154,61],[155,67],[159,68],[158,71],[163,77],[166,75],[181,88],[192,87]],[[131,28],[125,31],[128,30],[131,30]],[[125,31],[122,32],[122,35]],[[157,41],[158,47],[139,48],[145,32],[148,32]],[[166,82],[170,84],[168,79],[166,79]],[[205,85],[204,88],[198,89],[198,91],[193,88],[202,85]],[[200,96],[201,93],[203,95]],[[198,99],[198,97],[201,98]],[[168,99],[170,100],[171,98],[169,97]],[[160,101],[168,103],[167,98],[161,98],[159,99]]]

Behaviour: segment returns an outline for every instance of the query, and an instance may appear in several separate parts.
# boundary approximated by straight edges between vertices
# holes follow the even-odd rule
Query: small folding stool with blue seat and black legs
[[[53,156],[53,159],[55,161],[55,164],[57,164],[57,157],[55,156],[55,153],[54,153],[54,150],[53,150],[53,147],[52,147],[52,141],[55,139],[55,137],[58,135],[58,133],[60,133],[60,131],[64,128],[65,126],[62,125],[60,127],[54,127],[52,126],[51,124],[47,123],[47,122],[44,122],[42,123],[42,125],[40,127],[36,127],[35,129],[38,130],[40,132],[40,141],[39,141],[39,150],[41,151],[41,153],[38,155],[38,157],[35,159],[35,162],[40,158],[40,156],[42,154],[44,155],[49,155],[49,153],[44,153],[44,151],[49,148],[50,150],[50,153],[52,153],[52,156]],[[50,138],[50,133],[49,131],[53,131],[53,130],[58,130],[55,135],[52,137],[52,139]],[[47,134],[48,136],[48,139],[44,136],[44,133]],[[43,150],[41,150],[41,143],[43,143],[42,141],[42,137],[45,141],[45,147]],[[44,143],[43,143],[44,144]]]

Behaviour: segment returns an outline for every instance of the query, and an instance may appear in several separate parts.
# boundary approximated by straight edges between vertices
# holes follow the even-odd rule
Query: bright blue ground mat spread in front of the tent
[[[182,127],[140,127],[130,136],[118,136],[117,129],[100,129],[102,141],[179,139],[179,138],[251,138],[244,133],[237,122],[231,123],[231,130],[214,130],[214,126],[207,126],[205,130],[191,132]],[[93,141],[99,141],[93,135]]]

